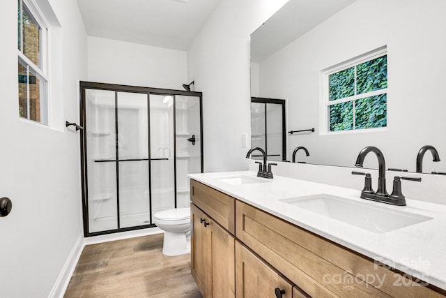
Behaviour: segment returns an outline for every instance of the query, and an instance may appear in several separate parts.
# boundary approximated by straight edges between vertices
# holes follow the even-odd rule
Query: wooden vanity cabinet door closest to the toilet
[[[192,234],[190,239],[190,269],[203,297],[208,287],[208,234],[203,221],[209,222],[206,214],[190,204]]]

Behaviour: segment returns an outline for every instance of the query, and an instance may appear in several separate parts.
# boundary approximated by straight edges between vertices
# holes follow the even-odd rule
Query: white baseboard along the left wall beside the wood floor
[[[75,271],[77,262],[79,261],[82,251],[84,250],[84,246],[84,235],[79,234],[75,245],[72,247],[68,258],[62,267],[61,273],[59,273],[59,276],[57,276],[56,282],[54,283],[51,292],[49,292],[49,298],[63,297],[68,287],[68,283],[70,283],[72,273]]]

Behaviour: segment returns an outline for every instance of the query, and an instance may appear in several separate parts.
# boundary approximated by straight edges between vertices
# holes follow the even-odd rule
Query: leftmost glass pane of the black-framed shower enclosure
[[[86,89],[89,232],[118,228],[115,92]]]

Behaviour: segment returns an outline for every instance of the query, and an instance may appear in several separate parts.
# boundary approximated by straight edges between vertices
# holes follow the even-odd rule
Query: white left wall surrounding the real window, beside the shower
[[[75,0],[49,3],[63,31],[54,40],[63,49],[62,96],[52,100],[63,102],[64,120],[78,121],[86,32]],[[13,201],[10,215],[0,218],[0,292],[47,297],[82,235],[79,134],[19,119],[17,1],[1,1],[0,27],[0,196]]]

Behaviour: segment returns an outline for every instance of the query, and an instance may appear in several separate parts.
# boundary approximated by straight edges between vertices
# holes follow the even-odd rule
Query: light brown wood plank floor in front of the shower
[[[64,297],[201,297],[190,255],[163,255],[163,236],[85,246]]]

